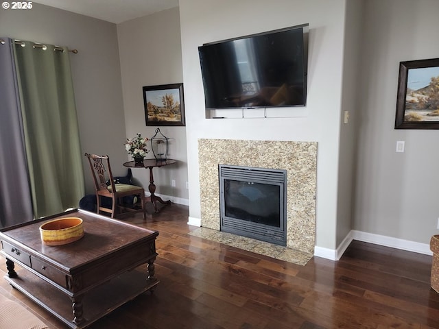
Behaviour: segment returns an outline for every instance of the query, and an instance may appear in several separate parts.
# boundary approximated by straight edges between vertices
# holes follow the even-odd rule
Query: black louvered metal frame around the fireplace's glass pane
[[[222,232],[228,232],[252,239],[287,245],[287,171],[283,169],[267,169],[257,167],[243,167],[229,164],[219,164],[219,227]],[[260,184],[280,186],[279,220],[280,227],[253,223],[243,219],[226,216],[224,180],[241,180]]]

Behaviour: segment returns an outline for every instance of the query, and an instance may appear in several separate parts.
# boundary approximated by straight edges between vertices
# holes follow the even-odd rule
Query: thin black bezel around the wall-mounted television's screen
[[[234,41],[234,40],[241,40],[241,39],[246,39],[246,38],[253,38],[253,37],[257,37],[257,36],[265,36],[268,34],[275,34],[278,32],[285,32],[285,31],[290,31],[292,29],[302,29],[302,42],[303,42],[303,103],[302,104],[289,104],[289,105],[276,105],[276,106],[235,106],[235,107],[207,107],[206,106],[206,100],[204,99],[204,107],[206,110],[248,110],[248,109],[259,109],[259,108],[303,108],[305,106],[307,106],[307,86],[308,86],[308,34],[309,34],[309,23],[304,23],[304,24],[300,24],[300,25],[294,25],[291,27],[283,27],[281,29],[273,29],[267,32],[260,32],[260,33],[255,33],[255,34],[248,34],[246,36],[238,36],[235,38],[228,38],[228,39],[224,39],[224,40],[217,40],[217,41],[213,41],[213,42],[206,42],[203,43],[201,46],[198,47],[198,56],[200,56],[200,48],[204,47],[204,46],[210,46],[210,45],[217,45],[223,42],[230,42],[230,41]],[[200,60],[200,69],[201,69],[201,73],[202,73],[202,64],[201,64],[201,59]],[[202,74],[203,75],[203,74]],[[203,77],[202,77],[203,79]],[[203,95],[205,96],[205,91],[204,91],[204,82],[202,82],[202,86],[203,86]]]

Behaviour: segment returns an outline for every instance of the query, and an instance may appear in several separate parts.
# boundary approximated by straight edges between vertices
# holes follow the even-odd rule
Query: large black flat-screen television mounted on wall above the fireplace
[[[198,47],[206,109],[305,106],[308,24]]]

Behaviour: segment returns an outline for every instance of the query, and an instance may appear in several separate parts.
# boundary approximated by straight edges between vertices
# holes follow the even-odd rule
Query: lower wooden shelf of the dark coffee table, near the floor
[[[31,300],[58,317],[67,326],[78,329],[89,326],[112,310],[133,300],[145,291],[153,291],[157,279],[148,280],[147,271],[134,269],[87,291],[82,299],[83,321],[73,322],[72,302],[68,295],[25,269],[17,269],[18,278],[5,279]]]

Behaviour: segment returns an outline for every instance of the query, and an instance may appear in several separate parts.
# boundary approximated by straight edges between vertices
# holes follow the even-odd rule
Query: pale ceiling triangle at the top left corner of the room
[[[116,24],[178,7],[178,0],[37,0],[34,2]]]

